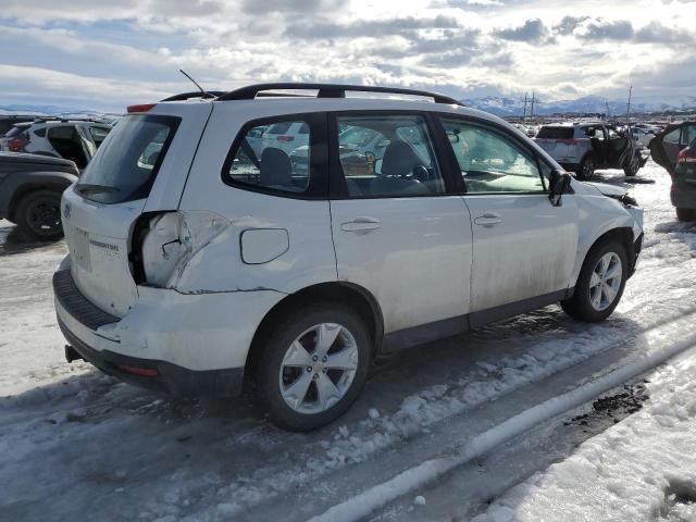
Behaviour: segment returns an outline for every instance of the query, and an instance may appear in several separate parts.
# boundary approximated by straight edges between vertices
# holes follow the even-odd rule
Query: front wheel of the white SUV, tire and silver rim
[[[625,249],[610,240],[594,246],[583,263],[573,297],[561,301],[569,315],[596,323],[613,312],[629,276]]]

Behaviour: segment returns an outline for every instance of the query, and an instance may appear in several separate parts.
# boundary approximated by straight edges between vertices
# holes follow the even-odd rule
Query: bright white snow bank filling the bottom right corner
[[[649,377],[643,410],[472,522],[696,521],[696,349]]]

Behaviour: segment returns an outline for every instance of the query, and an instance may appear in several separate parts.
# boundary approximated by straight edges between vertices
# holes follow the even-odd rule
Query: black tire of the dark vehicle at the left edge
[[[61,192],[36,190],[23,196],[14,211],[20,233],[30,240],[53,241],[63,237]]]

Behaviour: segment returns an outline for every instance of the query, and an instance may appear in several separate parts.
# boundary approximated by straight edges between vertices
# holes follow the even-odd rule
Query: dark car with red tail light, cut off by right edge
[[[696,122],[672,123],[650,142],[652,159],[672,177],[670,198],[681,221],[696,221]]]

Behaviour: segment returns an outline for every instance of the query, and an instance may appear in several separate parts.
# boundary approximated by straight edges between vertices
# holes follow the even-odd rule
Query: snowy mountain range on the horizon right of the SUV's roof
[[[489,96],[484,98],[464,99],[461,101],[467,105],[500,116],[522,115],[524,111],[523,98]],[[599,96],[585,96],[583,98],[577,98],[576,100],[557,101],[548,101],[542,98],[540,100],[535,101],[534,114],[606,113],[607,105],[609,108],[609,112],[613,115],[624,114],[626,112],[625,100],[607,100]],[[669,101],[642,101],[641,99],[637,99],[631,103],[632,113],[674,110],[696,110],[696,96]],[[531,102],[527,101],[526,113],[530,114],[530,111]]]

